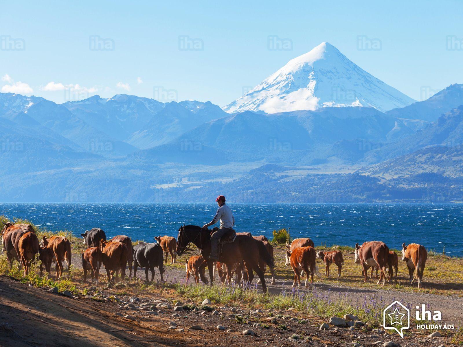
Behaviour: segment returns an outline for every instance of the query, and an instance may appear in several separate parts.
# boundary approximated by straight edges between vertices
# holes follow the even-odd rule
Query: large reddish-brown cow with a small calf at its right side
[[[361,264],[365,276],[365,282],[368,282],[367,270],[370,266],[378,266],[380,276],[378,284],[383,280],[382,285],[386,284],[386,267],[388,266],[389,248],[384,242],[370,241],[363,242],[362,246],[358,243],[355,245],[355,263]]]

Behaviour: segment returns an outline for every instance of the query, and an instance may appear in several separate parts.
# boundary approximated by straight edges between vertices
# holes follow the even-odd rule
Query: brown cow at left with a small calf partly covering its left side
[[[50,273],[50,266],[52,261],[56,261],[56,279],[59,279],[63,273],[63,260],[68,264],[68,272],[71,266],[71,243],[64,236],[51,236],[47,238],[44,235],[41,242],[41,246],[44,248],[49,248],[52,251],[53,256],[50,259],[49,251],[43,252],[44,256],[42,257],[46,261],[44,263],[45,269]],[[47,254],[48,253],[48,254]],[[42,254],[40,254],[42,256]]]

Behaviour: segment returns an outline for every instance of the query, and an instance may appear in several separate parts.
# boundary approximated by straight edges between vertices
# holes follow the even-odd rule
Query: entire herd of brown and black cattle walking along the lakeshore
[[[264,235],[252,236],[250,233],[237,233],[238,235],[249,235],[259,242],[263,242],[265,248],[273,260],[273,246],[268,242]],[[106,240],[105,232],[100,228],[93,228],[81,234],[84,238],[84,245],[87,246],[85,251],[81,252],[82,267],[84,272],[84,281],[87,280],[87,273],[90,271],[92,281],[98,284],[98,276],[101,265],[105,266],[108,281],[113,277],[117,281],[119,273],[121,280],[125,279],[125,269],[129,267],[129,278],[132,277],[132,262],[133,262],[133,277],[136,277],[137,268],[145,269],[145,279],[148,281],[148,272],[151,272],[151,281],[154,279],[154,268],[158,267],[161,281],[163,281],[163,263],[164,254],[165,262],[167,263],[168,255],[170,254],[170,263],[176,261],[176,240],[171,236],[156,236],[156,242],[139,242],[132,246],[130,237],[125,235],[114,236],[111,240]],[[63,261],[71,265],[71,244],[64,236],[51,236],[47,238],[45,235],[39,242],[34,229],[30,224],[12,224],[6,223],[2,230],[3,251],[6,251],[6,256],[10,262],[10,268],[13,266],[13,260],[18,260],[20,265],[24,267],[24,275],[28,274],[31,262],[38,254],[40,260],[40,275],[43,274],[43,266],[45,271],[50,275],[50,268],[53,262],[56,263],[56,279],[59,279],[63,273]],[[330,276],[330,264],[334,263],[338,266],[338,276],[341,276],[342,266],[344,264],[343,254],[339,250],[334,251],[318,251],[314,248],[313,241],[310,238],[298,238],[291,244],[287,244],[286,265],[291,266],[294,271],[293,287],[298,284],[300,286],[300,277],[305,272],[307,274],[306,287],[312,288],[313,275],[319,275],[316,266],[316,259],[320,259],[325,263],[325,276]],[[421,287],[421,279],[427,259],[426,249],[416,243],[411,243],[408,246],[405,243],[402,245],[402,261],[407,262],[407,267],[410,276],[410,283],[414,279],[418,280],[418,287]],[[392,282],[395,270],[395,282],[397,283],[397,267],[398,257],[394,251],[389,251],[388,246],[384,242],[371,241],[364,242],[363,245],[355,245],[355,263],[362,266],[362,274],[365,282],[368,281],[367,271],[371,267],[371,275],[376,270],[376,279],[378,279],[378,271],[380,273],[378,284],[383,281],[386,283],[386,271],[388,271],[389,282]],[[206,260],[200,255],[191,256],[185,260],[187,273],[187,281],[190,275],[194,276],[196,283],[208,283],[205,277]],[[265,272],[267,264],[259,263],[259,268]],[[275,283],[274,269],[269,266],[272,276],[272,284]],[[216,271],[222,283],[232,282],[233,274],[236,274],[238,283],[241,275],[244,280],[247,280],[248,274],[245,271],[245,266],[242,262],[236,264],[214,264]],[[415,273],[415,275],[413,275]],[[308,280],[310,279],[310,285]]]

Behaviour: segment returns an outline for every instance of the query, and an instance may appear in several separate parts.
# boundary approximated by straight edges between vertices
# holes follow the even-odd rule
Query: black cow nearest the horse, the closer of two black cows
[[[161,281],[163,279],[163,249],[161,245],[157,242],[147,243],[140,242],[133,248],[133,278],[137,277],[137,267],[145,268],[146,281],[148,282],[148,270],[151,270],[151,282],[154,278],[154,268],[157,266],[159,268],[159,273],[161,274]]]

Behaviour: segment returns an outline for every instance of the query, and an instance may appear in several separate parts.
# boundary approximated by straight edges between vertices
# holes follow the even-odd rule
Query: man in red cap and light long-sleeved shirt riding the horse
[[[235,225],[235,217],[233,217],[232,210],[225,204],[225,197],[219,195],[215,201],[219,205],[219,209],[215,213],[213,220],[203,225],[203,228],[217,223],[220,220],[220,227],[211,235],[211,254],[208,260],[217,261],[219,260],[219,241],[224,235],[235,234],[233,226]]]

